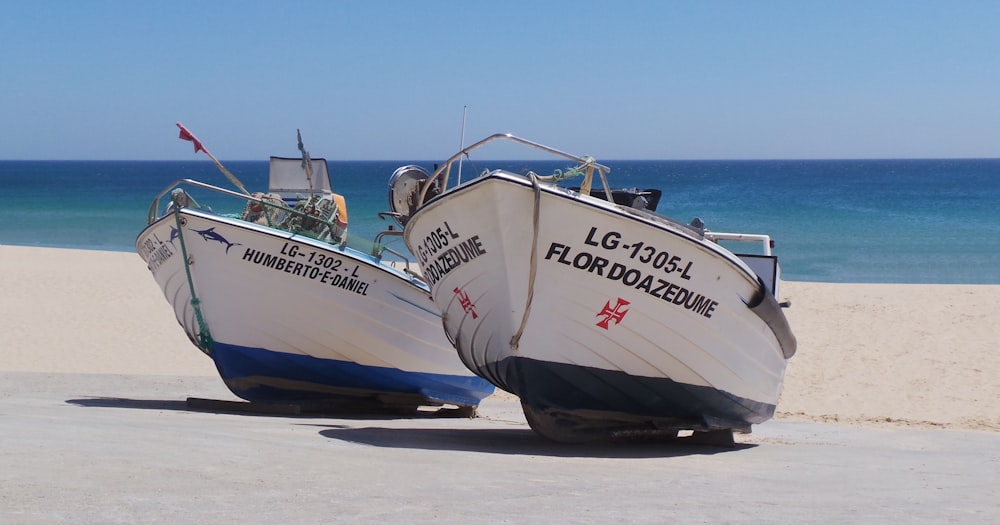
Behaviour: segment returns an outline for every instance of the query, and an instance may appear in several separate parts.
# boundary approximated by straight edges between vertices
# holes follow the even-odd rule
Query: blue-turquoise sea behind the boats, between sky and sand
[[[785,280],[1000,284],[1000,159],[602,162],[614,187],[663,190],[664,215],[770,235]],[[223,163],[250,191],[266,189],[267,161]],[[433,167],[329,162],[351,235],[371,239],[394,225],[378,212],[388,211],[389,176],[404,164]],[[463,178],[476,169],[467,161]],[[184,178],[235,189],[201,159],[0,161],[0,244],[134,253],[153,197]],[[389,246],[406,249],[400,238]]]

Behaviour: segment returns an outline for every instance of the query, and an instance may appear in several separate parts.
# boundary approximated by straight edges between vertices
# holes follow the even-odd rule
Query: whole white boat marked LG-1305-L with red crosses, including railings
[[[546,177],[487,169],[449,187],[453,165],[494,141],[572,164]],[[517,395],[532,428],[558,441],[731,438],[771,418],[796,341],[770,238],[671,220],[644,209],[642,192],[620,204],[591,196],[612,193],[609,171],[498,134],[396,198],[462,361]],[[579,192],[554,182],[567,175],[583,177]],[[758,253],[720,241],[751,241]]]

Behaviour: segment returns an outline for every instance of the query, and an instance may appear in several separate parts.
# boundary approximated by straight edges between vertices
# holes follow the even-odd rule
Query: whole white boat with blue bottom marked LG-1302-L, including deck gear
[[[221,212],[223,198],[236,199],[233,213]],[[219,212],[196,202],[208,199]],[[474,412],[493,385],[462,365],[427,284],[380,244],[400,232],[373,243],[349,239],[346,226],[324,159],[272,157],[266,194],[168,186],[136,250],[243,399]]]

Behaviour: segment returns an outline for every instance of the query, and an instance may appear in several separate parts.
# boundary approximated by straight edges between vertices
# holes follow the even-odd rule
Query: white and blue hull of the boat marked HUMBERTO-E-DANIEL
[[[475,406],[493,390],[455,358],[426,285],[367,254],[188,208],[136,247],[241,397]]]

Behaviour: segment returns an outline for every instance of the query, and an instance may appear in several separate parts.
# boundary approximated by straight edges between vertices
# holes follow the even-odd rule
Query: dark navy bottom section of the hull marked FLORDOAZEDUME
[[[775,406],[704,386],[620,371],[508,357],[482,371],[521,398],[539,434],[579,441],[587,433],[747,430]]]

